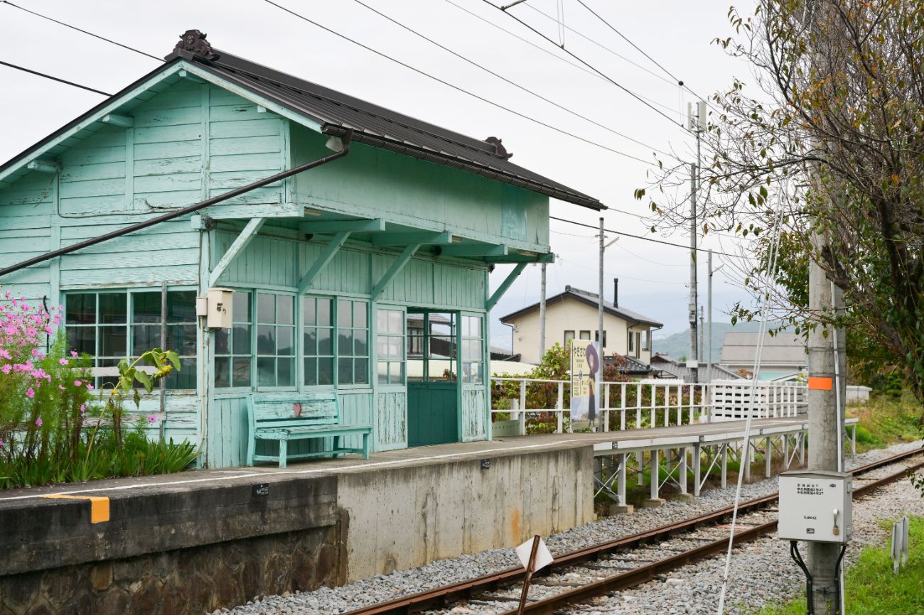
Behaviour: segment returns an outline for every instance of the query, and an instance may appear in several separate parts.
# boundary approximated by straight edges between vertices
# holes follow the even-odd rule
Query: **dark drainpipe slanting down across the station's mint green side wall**
[[[150,218],[149,220],[145,220],[144,222],[131,224],[130,226],[126,226],[125,228],[120,228],[117,231],[113,231],[111,233],[106,233],[105,235],[99,235],[96,237],[92,237],[91,239],[80,241],[79,243],[73,244],[71,246],[62,247],[60,249],[52,250],[51,252],[47,252],[37,257],[33,257],[28,260],[23,260],[22,262],[19,262],[15,265],[10,265],[9,267],[6,267],[0,270],[0,277],[3,277],[9,273],[13,273],[14,271],[19,271],[21,269],[31,267],[32,265],[43,262],[45,260],[55,259],[56,257],[63,256],[65,254],[70,254],[71,252],[76,252],[77,250],[82,249],[84,247],[90,247],[90,246],[95,246],[96,244],[102,244],[103,241],[108,241],[110,239],[114,239],[122,235],[128,235],[129,233],[140,231],[141,229],[148,228],[149,226],[153,226],[155,224],[160,224],[160,223],[167,222],[169,220],[175,220],[176,218],[181,218],[187,215],[188,213],[192,213],[194,211],[200,211],[202,209],[205,209],[206,207],[210,207],[216,203],[220,203],[223,200],[234,199],[235,197],[239,197],[242,194],[247,194],[250,190],[254,190],[258,187],[268,186],[269,184],[277,182],[281,179],[286,179],[286,177],[291,177],[292,175],[298,175],[299,173],[303,171],[308,171],[309,169],[313,169],[315,167],[321,166],[322,164],[334,162],[338,158],[343,158],[349,152],[349,146],[350,146],[350,141],[351,141],[352,136],[353,136],[353,130],[352,129],[346,130],[346,134],[344,134],[344,136],[341,138],[343,147],[341,148],[340,151],[337,151],[329,156],[324,156],[323,158],[312,160],[309,163],[299,164],[298,166],[292,167],[291,169],[287,169],[286,171],[282,171],[275,175],[270,175],[269,177],[264,177],[263,179],[259,179],[253,182],[252,184],[248,184],[247,186],[235,188],[233,190],[225,192],[224,194],[220,194],[217,197],[213,197],[212,199],[203,200],[199,203],[196,203],[195,205],[189,205],[188,207],[184,207],[176,211],[170,211],[169,213],[164,213],[164,215]]]

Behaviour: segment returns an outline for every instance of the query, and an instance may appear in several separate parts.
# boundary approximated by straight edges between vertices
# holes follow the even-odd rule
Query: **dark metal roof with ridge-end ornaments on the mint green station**
[[[193,41],[197,36],[200,38]],[[511,163],[511,154],[505,151],[500,139],[489,137],[480,140],[467,137],[268,66],[250,62],[237,55],[213,49],[205,41],[205,35],[198,30],[189,30],[181,36],[174,52],[164,59],[164,66],[185,62],[238,88],[272,101],[292,112],[297,119],[308,120],[311,127],[320,127],[324,134],[342,137],[348,130],[353,130],[352,140],[358,143],[483,175],[593,210],[606,209],[598,199]],[[116,93],[67,126],[39,141],[29,150],[0,165],[0,175],[12,165],[25,163],[23,159],[31,151],[41,148],[67,130],[81,126],[85,119],[161,72],[164,66],[153,70],[127,89]]]

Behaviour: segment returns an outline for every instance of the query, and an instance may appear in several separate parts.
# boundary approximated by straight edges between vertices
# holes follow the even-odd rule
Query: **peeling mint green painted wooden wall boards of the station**
[[[330,153],[323,147],[326,137],[221,87],[176,74],[134,92],[117,111],[131,115],[133,126],[91,122],[62,139],[48,154],[60,164],[57,174],[18,172],[0,182],[0,265],[115,231]],[[166,283],[201,290],[239,228],[266,217],[271,222],[218,283],[296,292],[301,276],[331,240],[330,235],[308,240],[298,232],[299,223],[317,220],[304,215],[306,207],[340,218],[383,218],[388,231],[449,231],[512,248],[548,247],[546,197],[357,144],[336,163],[203,211],[218,224],[211,230],[195,227],[189,217],[177,219],[18,271],[0,283],[16,295],[46,297],[49,305],[61,303],[63,293],[88,288]],[[375,247],[370,239],[351,236],[306,292],[370,299],[372,287],[403,248]],[[371,313],[394,306],[484,315],[487,290],[484,262],[439,258],[424,247],[384,288]],[[371,339],[374,335],[373,319]],[[208,381],[200,382],[198,398],[195,392],[167,396],[164,436],[201,444],[210,465],[237,465],[246,450],[250,389],[212,390],[212,336],[199,336],[199,358],[206,366],[201,374]],[[372,380],[375,361],[371,344]],[[299,389],[306,388],[292,391]],[[341,420],[371,424],[374,450],[407,446],[406,387],[372,382],[339,392]],[[483,385],[460,392],[456,430],[462,440],[487,437],[485,399]],[[142,412],[152,412],[159,401],[151,398],[142,405]],[[293,452],[318,445],[299,442]]]

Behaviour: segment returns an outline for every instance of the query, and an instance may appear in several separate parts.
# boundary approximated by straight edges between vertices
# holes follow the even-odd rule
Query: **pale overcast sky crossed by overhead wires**
[[[577,0],[561,0],[561,5],[558,0],[529,0],[511,8],[510,12],[560,42],[561,29],[554,17],[561,6],[566,27],[565,48],[600,68],[626,89],[650,99],[652,105],[668,117],[655,113],[602,78],[556,59],[555,56],[577,64],[573,58],[482,0],[362,1],[481,66],[650,147],[619,137],[517,90],[419,39],[354,0],[279,0],[279,4],[459,88],[584,139],[644,160],[651,160],[652,147],[675,151],[683,160],[692,160],[693,140],[678,124],[684,121],[687,102],[696,100],[695,97],[678,88],[661,68],[592,16]],[[494,2],[500,4],[498,0]],[[585,0],[585,3],[702,96],[727,87],[733,75],[748,77],[746,66],[730,60],[711,44],[712,39],[732,33],[726,19],[727,2]],[[677,230],[667,236],[651,235],[649,224],[638,218],[646,211],[642,203],[632,198],[632,192],[645,184],[650,166],[482,103],[294,18],[262,0],[159,0],[156,3],[18,0],[17,4],[159,57],[172,50],[183,31],[205,31],[216,48],[479,139],[500,137],[507,150],[514,153],[515,163],[590,194],[614,208],[603,214],[607,228],[688,245],[686,231]],[[509,30],[541,49],[494,26]],[[567,29],[577,30],[579,34]],[[610,51],[582,39],[581,34],[602,43]],[[0,5],[0,59],[109,92],[124,88],[156,66],[151,58],[7,5]],[[0,66],[0,74],[4,84],[0,90],[0,159],[3,160],[102,100],[97,94],[6,66]],[[594,211],[554,200],[552,215],[592,225],[597,224],[598,218]],[[551,229],[557,261],[548,270],[549,295],[564,290],[565,284],[595,290],[598,274],[594,231],[556,221],[551,222]],[[700,245],[734,251],[727,237],[710,236],[701,239]],[[703,305],[705,260],[699,260]],[[663,321],[663,333],[684,331],[687,329],[688,262],[687,250],[623,237],[606,252],[604,288],[607,295],[612,294],[612,278],[618,277],[621,306]],[[717,259],[716,265],[720,262]],[[748,299],[736,287],[735,276],[726,277],[734,273],[732,270],[725,267],[714,278],[717,320],[727,321],[722,311],[738,299]],[[506,271],[509,268],[499,267],[492,273],[492,286],[503,281]],[[496,318],[538,301],[539,280],[539,267],[530,266],[495,308],[492,344],[509,345],[509,329]]]

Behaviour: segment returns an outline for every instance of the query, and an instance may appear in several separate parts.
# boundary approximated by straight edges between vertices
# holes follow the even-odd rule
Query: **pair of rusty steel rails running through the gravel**
[[[863,474],[885,465],[901,462],[908,457],[914,457],[922,453],[924,452],[922,452],[920,449],[900,452],[891,457],[886,457],[870,464],[858,466],[851,470],[851,474]],[[911,466],[912,469],[917,469],[919,467],[924,467],[924,461]],[[866,495],[870,491],[881,488],[889,483],[894,482],[895,480],[899,480],[905,475],[906,470],[901,470],[889,476],[871,481],[868,485],[855,488],[854,497],[856,498],[861,495]],[[760,498],[755,498],[754,500],[748,500],[738,505],[738,512],[749,513],[755,510],[760,510],[768,504],[771,504],[773,501],[776,501],[778,498],[779,493],[772,493]],[[723,509],[702,514],[698,517],[693,517],[675,524],[663,525],[661,527],[656,527],[645,532],[639,532],[638,534],[634,534],[628,537],[617,538],[608,542],[592,545],[585,549],[577,549],[576,551],[565,553],[565,555],[555,558],[555,560],[548,567],[542,569],[541,571],[537,571],[533,576],[548,576],[550,573],[557,569],[567,568],[582,561],[597,560],[602,555],[615,550],[632,549],[646,543],[661,542],[667,538],[673,537],[676,534],[683,534],[693,530],[699,525],[710,525],[716,523],[717,521],[721,521],[723,517],[732,514],[732,511],[733,507],[728,506]],[[764,534],[772,532],[776,528],[776,524],[776,521],[772,521],[763,525],[743,528],[736,532],[734,543],[737,545],[742,542],[747,542],[748,540],[754,540]],[[526,605],[524,612],[552,612],[555,609],[561,609],[567,603],[579,602],[581,600],[589,599],[590,597],[601,596],[602,594],[610,593],[619,589],[625,589],[626,587],[639,585],[650,581],[658,574],[669,572],[687,563],[699,561],[710,557],[715,553],[720,553],[727,547],[727,538],[722,538],[721,540],[716,540],[709,544],[702,545],[694,549],[689,549],[683,553],[678,553],[677,555],[670,558],[655,561],[645,566],[640,566],[639,568],[634,568],[630,571],[626,571],[625,573],[616,574],[614,576],[590,583],[588,585],[582,585],[581,587],[556,594],[553,597],[544,598],[536,602],[530,602]],[[524,576],[525,570],[523,568],[510,568],[499,573],[484,574],[482,576],[468,579],[460,583],[444,585],[420,592],[419,594],[395,598],[394,600],[389,600],[387,602],[351,610],[348,611],[345,615],[403,615],[428,609],[439,609],[454,602],[490,592],[498,587],[514,585],[518,581],[521,581]],[[516,612],[516,610],[511,610],[505,612],[503,615],[509,615],[509,613]]]

